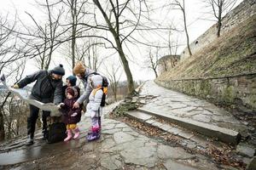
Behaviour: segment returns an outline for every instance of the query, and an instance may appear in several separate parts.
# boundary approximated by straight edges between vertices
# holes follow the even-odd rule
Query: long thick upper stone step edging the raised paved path
[[[207,124],[204,122],[197,122],[197,121],[194,121],[194,120],[191,120],[188,118],[158,113],[158,112],[150,111],[145,108],[138,108],[137,111],[147,113],[150,116],[156,116],[156,117],[163,118],[167,122],[172,122],[173,124],[176,124],[177,126],[184,127],[186,129],[195,131],[196,133],[201,133],[208,137],[217,138],[218,140],[220,140],[224,143],[236,145],[241,140],[240,133],[238,133],[234,130],[227,129],[227,128],[214,126],[214,125]]]

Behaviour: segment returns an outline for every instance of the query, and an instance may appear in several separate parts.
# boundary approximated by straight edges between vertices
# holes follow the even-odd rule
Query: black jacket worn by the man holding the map
[[[51,71],[37,71],[18,82],[19,88],[24,88],[27,84],[37,81],[32,87],[32,98],[43,103],[59,104],[62,100],[63,82],[52,79],[51,74]]]

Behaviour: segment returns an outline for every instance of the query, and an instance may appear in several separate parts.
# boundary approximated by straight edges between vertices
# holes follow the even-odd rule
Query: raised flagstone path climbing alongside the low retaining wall
[[[206,122],[240,133],[246,133],[247,131],[246,122],[240,122],[228,111],[224,111],[224,109],[218,108],[205,100],[162,88],[154,81],[145,82],[141,94],[158,96],[155,99],[148,100],[147,105],[143,106],[143,108],[150,111],[161,111],[164,114]]]

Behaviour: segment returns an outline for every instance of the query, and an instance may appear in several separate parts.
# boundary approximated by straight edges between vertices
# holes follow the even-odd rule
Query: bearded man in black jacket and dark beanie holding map
[[[13,88],[24,88],[27,84],[35,82],[32,87],[32,93],[29,99],[36,99],[42,103],[54,103],[58,105],[62,100],[62,76],[65,75],[63,65],[56,66],[51,71],[37,71],[32,75],[26,76],[20,82],[15,84]],[[27,117],[27,139],[26,144],[33,144],[36,122],[38,119],[38,107],[29,105],[30,115]],[[49,111],[43,111],[43,133],[44,139],[47,139],[47,117],[50,116]]]

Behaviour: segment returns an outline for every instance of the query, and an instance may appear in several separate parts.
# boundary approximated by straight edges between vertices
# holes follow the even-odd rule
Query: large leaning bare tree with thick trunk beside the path
[[[128,82],[128,94],[136,94],[133,77],[131,75],[131,69],[127,56],[125,55],[124,44],[125,40],[127,40],[127,38],[130,37],[131,34],[137,30],[137,26],[140,22],[140,17],[143,12],[142,4],[144,2],[140,0],[125,0],[121,2],[118,0],[105,0],[104,2],[101,1],[100,3],[100,1],[98,0],[93,0],[93,3],[99,10],[94,11],[94,13],[92,14],[92,18],[90,20],[93,20],[94,22],[92,23],[90,21],[89,23],[79,24],[87,26],[88,30],[93,29],[106,31],[105,35],[107,36],[102,36],[102,34],[99,34],[97,36],[91,37],[102,38],[106,42],[110,43],[110,48],[114,48],[117,51],[123,68],[125,70],[125,75]],[[97,12],[100,12],[100,14],[102,14],[102,19],[99,18]],[[102,22],[102,20],[104,20],[104,23]],[[109,33],[112,37],[108,37]],[[109,46],[107,47],[106,45],[106,48],[109,48]]]

